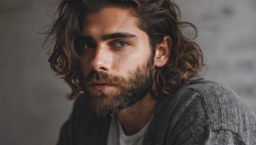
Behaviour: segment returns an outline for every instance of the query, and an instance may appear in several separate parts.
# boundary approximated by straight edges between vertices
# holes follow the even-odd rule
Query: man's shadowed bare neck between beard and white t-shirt
[[[121,122],[125,135],[133,135],[139,132],[150,120],[156,99],[152,95],[146,95],[123,113],[118,113],[117,118]]]

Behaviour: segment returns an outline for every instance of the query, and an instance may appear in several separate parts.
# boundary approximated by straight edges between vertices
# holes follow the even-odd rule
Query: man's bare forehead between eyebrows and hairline
[[[132,15],[128,8],[104,8],[97,12],[86,13],[83,16],[82,34],[109,34],[113,32],[140,31],[136,22],[137,17]]]

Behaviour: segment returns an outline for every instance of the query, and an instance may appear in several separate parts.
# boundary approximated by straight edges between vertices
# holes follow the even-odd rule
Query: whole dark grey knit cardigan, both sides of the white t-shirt
[[[95,115],[87,102],[84,95],[77,97],[58,145],[106,144],[111,117]],[[256,144],[256,117],[229,88],[191,79],[158,97],[143,144]]]

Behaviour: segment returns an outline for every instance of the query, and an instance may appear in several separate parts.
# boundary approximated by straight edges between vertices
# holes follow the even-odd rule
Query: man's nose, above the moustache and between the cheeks
[[[93,71],[109,72],[111,68],[110,55],[108,48],[98,47],[90,63],[90,69]]]

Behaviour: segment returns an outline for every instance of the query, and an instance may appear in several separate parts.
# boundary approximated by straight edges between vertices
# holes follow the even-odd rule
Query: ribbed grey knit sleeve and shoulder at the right
[[[180,89],[164,116],[162,144],[256,144],[255,114],[220,83],[203,80]]]

